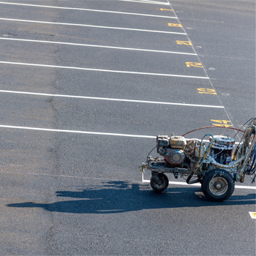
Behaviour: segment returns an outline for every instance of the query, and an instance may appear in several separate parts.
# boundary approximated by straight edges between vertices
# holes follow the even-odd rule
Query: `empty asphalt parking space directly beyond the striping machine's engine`
[[[184,120],[189,121],[191,127],[197,127],[198,118],[202,120],[201,126],[208,126],[212,123],[211,119],[217,117],[225,119],[225,111],[221,106],[168,105],[161,102],[153,104],[12,93],[1,94],[1,97],[1,109],[8,108],[8,112],[1,111],[1,124],[21,127],[156,135],[157,132],[161,134],[169,130],[175,132]],[[214,109],[211,116],[208,116],[208,109]],[[54,120],[56,113],[58,117]],[[185,129],[179,131],[186,132]]]

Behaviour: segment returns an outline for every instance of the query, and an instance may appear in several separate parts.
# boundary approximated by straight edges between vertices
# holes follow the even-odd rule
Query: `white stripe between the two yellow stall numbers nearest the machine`
[[[189,107],[200,107],[200,108],[224,108],[223,106],[216,106],[216,105],[197,105],[197,104],[185,104],[185,103],[175,103],[175,102],[153,102],[148,100],[114,99],[114,98],[102,98],[102,97],[63,95],[63,94],[42,94],[42,93],[29,92],[29,91],[0,90],[0,92],[10,93],[10,94],[29,94],[29,95],[38,95],[38,96],[48,96],[48,97],[67,97],[67,98],[75,98],[75,99],[99,99],[99,100],[108,100],[108,101],[116,101],[116,102],[136,102],[136,103],[148,103],[148,104],[159,104],[159,105],[178,105],[178,106],[189,106]]]

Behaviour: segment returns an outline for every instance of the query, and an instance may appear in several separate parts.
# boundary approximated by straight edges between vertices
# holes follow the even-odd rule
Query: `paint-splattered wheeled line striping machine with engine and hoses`
[[[228,135],[206,134],[201,140],[184,138],[190,132],[170,138],[157,135],[157,146],[154,148],[161,157],[149,156],[153,148],[146,163],[140,165],[140,172],[151,170],[150,184],[155,192],[167,189],[169,180],[164,173],[173,173],[175,178],[187,177],[187,184],[200,182],[208,200],[227,200],[233,194],[235,182],[244,182],[246,175],[252,177],[252,183],[255,182],[256,118],[249,119],[243,127],[244,130],[225,127],[244,133],[236,148],[235,139]],[[205,128],[208,127],[200,129]],[[206,136],[209,136],[207,147],[203,142]]]

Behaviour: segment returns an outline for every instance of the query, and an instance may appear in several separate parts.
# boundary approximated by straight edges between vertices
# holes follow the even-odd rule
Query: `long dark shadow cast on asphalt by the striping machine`
[[[12,203],[9,207],[44,208],[51,212],[72,214],[113,214],[156,208],[185,208],[205,206],[255,205],[255,194],[233,195],[222,203],[206,200],[200,187],[170,187],[163,193],[156,193],[149,185],[129,181],[102,182],[99,187],[87,187],[81,191],[57,191],[59,200],[55,203]],[[79,198],[79,199],[78,199]],[[61,198],[59,198],[61,199]]]

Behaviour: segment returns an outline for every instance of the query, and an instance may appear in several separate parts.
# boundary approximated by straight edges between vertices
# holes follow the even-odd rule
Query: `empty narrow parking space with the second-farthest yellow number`
[[[172,26],[173,32],[184,33],[181,29],[181,25],[178,26],[178,18],[173,15],[164,15],[163,12],[159,11],[158,15],[146,15],[134,12],[103,12],[102,10],[72,10],[72,9],[61,9],[61,7],[45,7],[45,6],[29,6],[29,5],[8,5],[1,4],[1,18],[11,18],[15,16],[15,20],[34,20],[42,22],[53,22],[53,23],[65,23],[66,26],[70,24],[77,24],[78,26],[106,26],[113,28],[124,28],[124,29],[145,29],[145,30],[160,30],[170,31]],[[17,7],[19,12],[17,12]],[[48,13],[54,14],[59,12],[59,20],[52,15],[45,17],[45,20],[38,20],[37,17],[42,15],[44,10]],[[132,17],[131,17],[132,15]],[[81,20],[83,22],[81,23]],[[24,21],[25,22],[25,21]],[[29,21],[28,21],[29,22]]]

